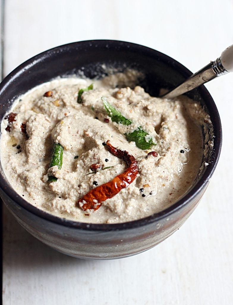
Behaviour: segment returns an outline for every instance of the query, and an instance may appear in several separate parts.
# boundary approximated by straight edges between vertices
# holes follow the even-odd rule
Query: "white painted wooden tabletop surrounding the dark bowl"
[[[155,48],[196,72],[233,42],[233,2],[218,8],[217,0],[5,0],[3,72],[56,45],[100,38]],[[134,257],[85,261],[43,245],[4,209],[3,304],[232,304],[232,83],[229,74],[207,84],[222,153],[179,231]]]

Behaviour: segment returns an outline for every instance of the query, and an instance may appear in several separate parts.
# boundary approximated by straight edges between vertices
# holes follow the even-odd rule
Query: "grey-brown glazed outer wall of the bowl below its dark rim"
[[[207,186],[207,185],[206,185]],[[182,208],[156,221],[123,229],[86,231],[50,222],[19,207],[0,192],[0,195],[17,221],[31,235],[55,250],[78,258],[113,259],[131,256],[148,250],[172,235],[191,215],[205,188]]]

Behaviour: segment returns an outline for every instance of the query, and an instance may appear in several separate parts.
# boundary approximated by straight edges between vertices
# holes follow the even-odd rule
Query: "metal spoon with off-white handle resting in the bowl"
[[[210,62],[178,87],[160,97],[172,99],[228,72],[233,72],[233,45],[226,48],[215,61]]]

